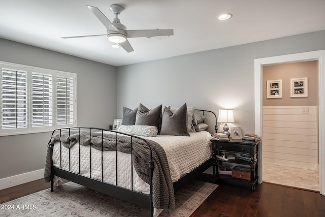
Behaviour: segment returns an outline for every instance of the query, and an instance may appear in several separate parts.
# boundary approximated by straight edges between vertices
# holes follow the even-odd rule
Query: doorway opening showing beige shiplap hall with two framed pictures
[[[319,191],[318,60],[262,66],[263,182]]]

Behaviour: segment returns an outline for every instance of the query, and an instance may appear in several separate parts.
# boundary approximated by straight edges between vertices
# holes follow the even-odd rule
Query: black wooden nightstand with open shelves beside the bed
[[[255,190],[255,184],[258,180],[258,145],[260,141],[249,141],[241,139],[230,140],[211,140],[212,158],[213,158],[213,180],[233,179],[236,182],[249,183],[251,190]],[[249,159],[222,159],[221,153],[235,153],[237,156],[244,154]],[[221,174],[223,164],[237,165],[231,174]]]

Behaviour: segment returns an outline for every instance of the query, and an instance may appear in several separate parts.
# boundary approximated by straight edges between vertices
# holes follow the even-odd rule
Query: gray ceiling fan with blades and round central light
[[[139,38],[139,37],[155,37],[155,36],[173,36],[173,29],[137,29],[127,30],[125,25],[120,22],[117,17],[124,8],[120,5],[111,5],[110,11],[115,14],[113,22],[111,22],[98,8],[89,6],[87,7],[90,11],[104,24],[107,28],[107,34],[103,35],[90,35],[90,36],[72,36],[72,37],[61,37],[62,39],[72,38],[83,38],[83,37],[96,37],[96,36],[107,36],[108,40],[119,44],[126,52],[134,51],[131,44],[128,42],[128,38]]]

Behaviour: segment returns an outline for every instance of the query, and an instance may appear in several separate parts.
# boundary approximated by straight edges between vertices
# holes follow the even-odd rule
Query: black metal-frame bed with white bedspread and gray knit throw
[[[217,130],[213,112],[195,111],[202,113],[201,117],[212,114]],[[51,181],[51,191],[56,177],[60,177],[149,207],[150,216],[157,216],[163,209],[174,209],[174,191],[213,165],[211,133],[203,130],[188,136],[169,135],[171,126],[164,130],[164,113],[156,136],[130,134],[133,128],[124,125],[120,128],[124,126],[126,131],[88,127],[54,130],[44,174],[45,181]],[[127,115],[123,114],[124,118]],[[173,127],[172,130],[175,132]]]

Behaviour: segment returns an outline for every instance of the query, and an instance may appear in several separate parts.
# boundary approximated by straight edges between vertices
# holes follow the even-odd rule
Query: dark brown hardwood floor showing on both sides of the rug
[[[0,204],[50,188],[43,179],[0,191]],[[192,213],[197,216],[325,216],[325,196],[280,185],[263,183],[250,188],[220,183],[218,188]]]

